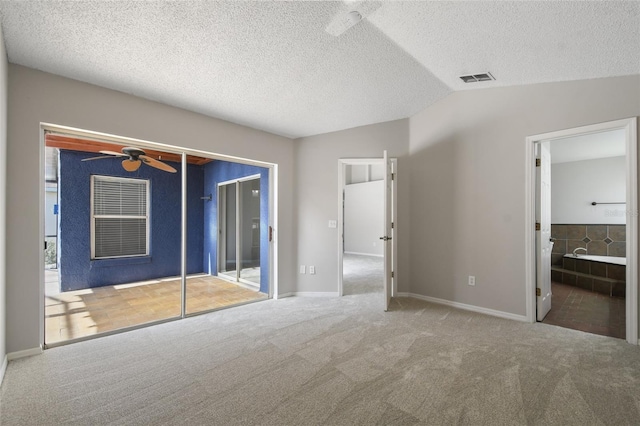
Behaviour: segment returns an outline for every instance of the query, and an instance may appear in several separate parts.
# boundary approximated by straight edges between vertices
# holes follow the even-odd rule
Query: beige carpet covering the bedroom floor
[[[50,349],[9,364],[0,424],[640,423],[638,347],[381,298],[270,300]]]

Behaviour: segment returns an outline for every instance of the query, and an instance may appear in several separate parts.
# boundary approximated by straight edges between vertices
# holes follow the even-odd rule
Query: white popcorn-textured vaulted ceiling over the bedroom
[[[457,90],[640,74],[637,1],[2,1],[0,14],[12,63],[288,137],[409,117]],[[487,71],[496,81],[459,79]]]

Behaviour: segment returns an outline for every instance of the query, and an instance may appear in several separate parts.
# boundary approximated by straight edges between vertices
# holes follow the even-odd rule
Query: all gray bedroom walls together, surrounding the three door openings
[[[281,294],[338,290],[338,231],[327,226],[338,217],[338,159],[387,149],[399,166],[398,290],[524,315],[525,137],[640,115],[640,76],[618,77],[457,92],[410,119],[294,143],[21,66],[9,81],[1,353],[40,344],[40,122],[278,163]],[[295,276],[296,264],[316,275]]]

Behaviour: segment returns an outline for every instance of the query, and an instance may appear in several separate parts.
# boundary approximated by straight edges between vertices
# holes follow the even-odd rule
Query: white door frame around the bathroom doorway
[[[638,344],[638,158],[637,118],[627,118],[573,129],[528,136],[525,149],[525,291],[526,318],[536,321],[535,250],[535,143],[609,130],[625,131],[627,165],[627,267],[626,267],[626,340]]]

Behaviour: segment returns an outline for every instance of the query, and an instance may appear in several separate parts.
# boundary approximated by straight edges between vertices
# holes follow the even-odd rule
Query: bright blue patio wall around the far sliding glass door
[[[206,273],[218,273],[218,183],[260,174],[260,291],[269,292],[269,169],[246,164],[213,161],[203,166],[204,193],[213,199],[204,205],[204,257]]]

